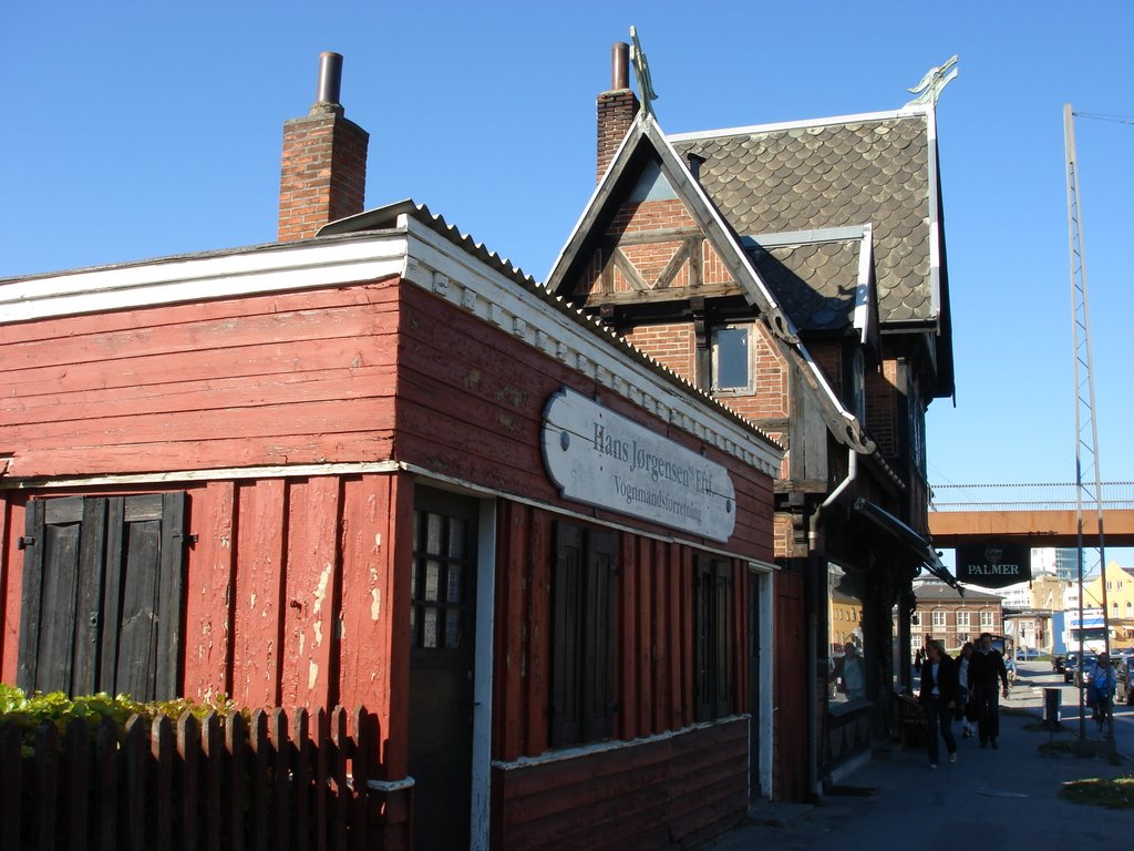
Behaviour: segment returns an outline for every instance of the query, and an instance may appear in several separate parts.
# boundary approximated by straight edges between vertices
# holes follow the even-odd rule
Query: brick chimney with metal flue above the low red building
[[[314,236],[323,225],[363,210],[370,134],[342,117],[342,57],[321,53],[315,103],[284,124],[280,218],[277,238]]]

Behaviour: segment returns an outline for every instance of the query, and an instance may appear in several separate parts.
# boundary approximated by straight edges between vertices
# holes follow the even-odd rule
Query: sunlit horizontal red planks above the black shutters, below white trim
[[[397,285],[0,327],[8,474],[387,458]]]

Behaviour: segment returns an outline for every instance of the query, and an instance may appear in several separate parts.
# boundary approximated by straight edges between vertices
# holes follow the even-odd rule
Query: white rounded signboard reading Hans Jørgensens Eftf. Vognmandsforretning
[[[728,470],[570,388],[548,399],[541,441],[567,499],[716,541],[733,534]]]

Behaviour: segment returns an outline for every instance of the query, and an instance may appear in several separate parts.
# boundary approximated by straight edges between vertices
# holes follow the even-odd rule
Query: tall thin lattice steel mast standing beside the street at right
[[[1064,145],[1067,153],[1067,243],[1070,254],[1072,326],[1075,346],[1075,514],[1078,529],[1078,663],[1084,668],[1083,640],[1083,507],[1094,504],[1099,524],[1099,576],[1102,584],[1103,651],[1110,656],[1110,613],[1107,608],[1107,550],[1102,531],[1102,482],[1099,470],[1099,429],[1094,406],[1091,311],[1086,290],[1086,255],[1083,248],[1083,210],[1080,201],[1078,157],[1070,104],[1064,104]],[[1078,738],[1085,736],[1083,689],[1078,689]],[[1114,742],[1114,719],[1107,739]]]

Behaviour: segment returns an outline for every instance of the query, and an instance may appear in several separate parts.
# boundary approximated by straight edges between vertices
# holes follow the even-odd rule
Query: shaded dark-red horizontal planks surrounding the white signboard
[[[510,336],[486,335],[482,320],[430,293],[404,287],[401,310],[395,448],[399,461],[577,507],[559,498],[540,452],[547,399],[568,386],[726,465],[737,498],[736,531],[728,546],[752,558],[772,559],[770,477],[643,412],[557,359]],[[613,512],[596,509],[595,515],[671,534]]]

